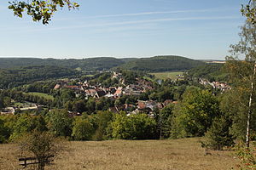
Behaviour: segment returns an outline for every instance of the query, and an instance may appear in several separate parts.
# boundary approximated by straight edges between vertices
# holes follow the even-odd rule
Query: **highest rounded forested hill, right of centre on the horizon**
[[[204,62],[175,55],[166,55],[131,60],[120,67],[128,70],[160,72],[184,71],[199,65],[204,65]]]

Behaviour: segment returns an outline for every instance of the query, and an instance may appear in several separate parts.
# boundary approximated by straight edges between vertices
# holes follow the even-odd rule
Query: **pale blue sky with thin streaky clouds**
[[[247,0],[73,0],[48,26],[0,1],[0,57],[82,59],[180,55],[224,59],[240,37]]]

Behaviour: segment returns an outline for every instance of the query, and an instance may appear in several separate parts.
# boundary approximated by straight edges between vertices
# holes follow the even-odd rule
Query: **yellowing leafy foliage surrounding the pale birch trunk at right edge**
[[[236,135],[236,138],[244,139],[249,129],[253,139],[253,134],[256,132],[256,96],[255,86],[252,85],[255,85],[256,81],[253,75],[256,61],[256,27],[247,22],[241,27],[240,37],[240,42],[230,46],[231,56],[226,58],[225,67],[229,71],[230,83],[232,83],[232,94],[229,95],[230,99],[226,100],[226,105],[229,106],[226,107],[236,107],[230,110],[230,114],[233,115],[231,132]],[[248,105],[249,101],[251,105]],[[236,102],[236,106],[232,106],[231,102]]]

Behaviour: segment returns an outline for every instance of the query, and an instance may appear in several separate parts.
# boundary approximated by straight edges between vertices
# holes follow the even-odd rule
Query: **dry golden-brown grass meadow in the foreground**
[[[46,169],[226,170],[237,161],[230,151],[205,155],[200,139],[69,142]],[[0,169],[19,169],[14,144],[0,144]],[[21,168],[20,168],[21,169]]]

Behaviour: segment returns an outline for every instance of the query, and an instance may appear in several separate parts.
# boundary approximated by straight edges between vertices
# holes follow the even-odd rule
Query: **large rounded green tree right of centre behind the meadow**
[[[188,88],[175,108],[172,138],[202,136],[220,114],[218,99],[207,90]]]

